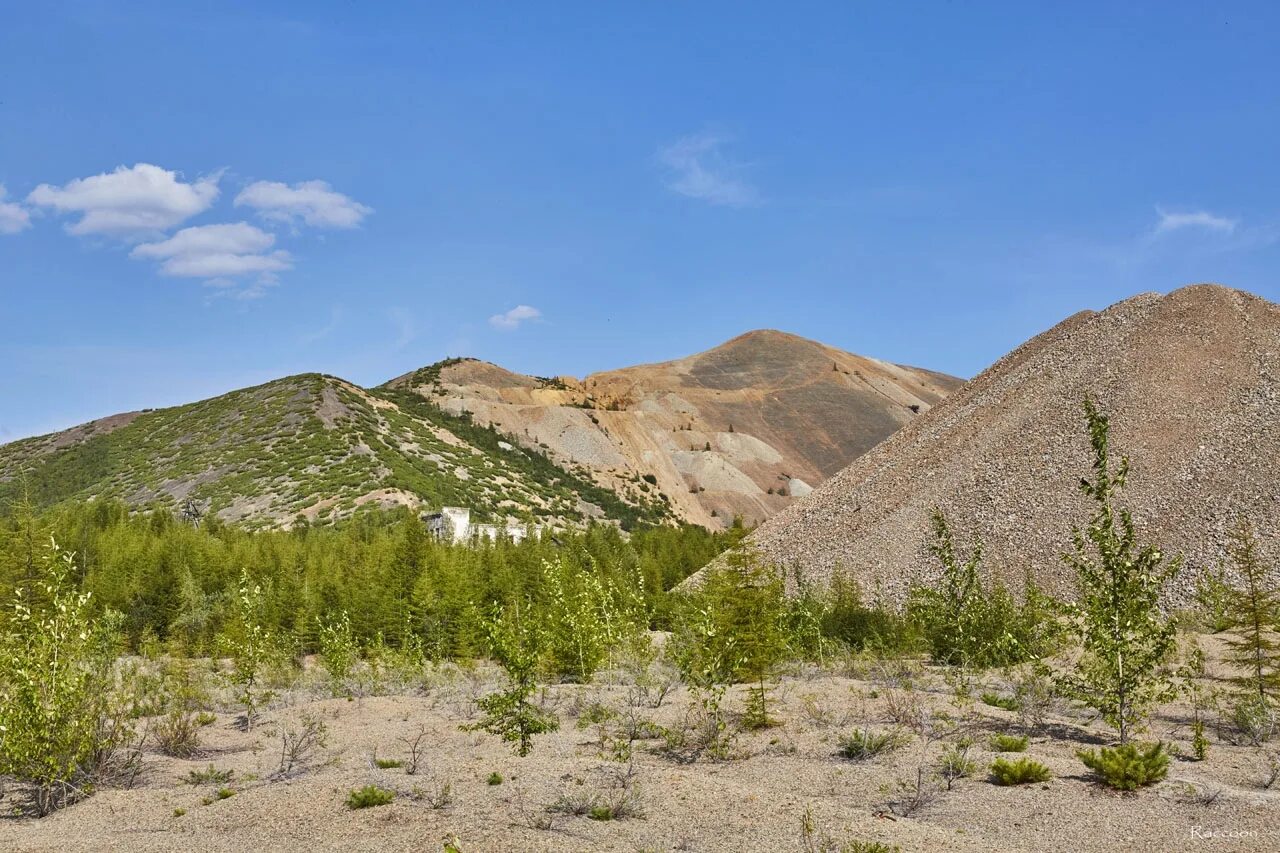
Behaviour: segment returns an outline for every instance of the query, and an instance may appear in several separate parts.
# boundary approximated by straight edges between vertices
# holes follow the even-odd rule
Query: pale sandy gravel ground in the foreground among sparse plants
[[[454,671],[425,692],[351,701],[294,688],[250,733],[237,727],[230,710],[219,713],[202,729],[201,753],[192,760],[148,752],[132,789],[99,792],[42,820],[0,820],[0,848],[442,850],[452,840],[466,853],[709,852],[838,850],[841,843],[864,840],[902,850],[1280,850],[1280,784],[1271,790],[1261,785],[1275,743],[1229,745],[1211,731],[1208,761],[1175,758],[1166,781],[1121,795],[1094,784],[1074,756],[1078,748],[1107,743],[1107,730],[1059,706],[1025,753],[1047,765],[1053,779],[1001,788],[987,779],[995,757],[987,742],[993,733],[1015,730],[1015,715],[980,701],[966,715],[938,674],[916,675],[910,692],[887,671],[852,675],[859,678],[817,670],[785,678],[773,694],[773,715],[782,725],[739,735],[733,760],[681,763],[659,753],[662,740],[636,742],[634,789],[644,816],[614,821],[548,816],[545,807],[562,795],[588,802],[617,790],[622,766],[600,757],[600,727],[579,727],[576,717],[594,703],[625,710],[631,695],[626,684],[549,688],[547,702],[557,708],[561,730],[539,736],[526,758],[492,735],[460,727],[476,719],[475,698],[497,684],[493,672]],[[984,680],[1000,684],[995,676]],[[855,725],[893,727],[892,717],[913,697],[961,722],[975,740],[978,772],[901,817],[886,809],[892,798],[887,789],[916,777],[920,739],[865,762],[840,758],[836,749],[840,735]],[[741,693],[731,694],[730,704],[740,708]],[[675,726],[687,707],[687,693],[676,689],[660,707],[637,712]],[[328,745],[305,771],[274,780],[278,726],[294,725],[302,713],[324,721]],[[1185,713],[1164,708],[1149,735],[1180,743],[1189,756]],[[420,731],[417,774],[374,766],[375,751],[379,758],[406,758],[404,739]],[[942,749],[933,743],[923,760],[936,766]],[[234,795],[218,799],[218,784],[183,781],[209,765],[233,771],[225,788]],[[500,784],[489,784],[494,772]],[[445,783],[451,798],[442,803]],[[370,784],[398,795],[388,806],[347,808],[348,793]],[[13,793],[10,788],[5,804]],[[800,829],[806,809],[818,836],[812,848]],[[824,836],[835,847],[818,847]]]

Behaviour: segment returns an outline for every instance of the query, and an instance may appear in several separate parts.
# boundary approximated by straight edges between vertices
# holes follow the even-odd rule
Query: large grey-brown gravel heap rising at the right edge
[[[817,580],[847,571],[891,601],[936,573],[928,514],[940,506],[1011,587],[1024,570],[1059,593],[1060,555],[1089,512],[1082,401],[1111,419],[1133,469],[1123,501],[1140,535],[1196,570],[1224,556],[1247,516],[1263,547],[1280,533],[1280,306],[1201,284],[1082,313],[1012,351],[943,403],[754,534],[763,555]],[[1275,557],[1277,555],[1270,553]]]

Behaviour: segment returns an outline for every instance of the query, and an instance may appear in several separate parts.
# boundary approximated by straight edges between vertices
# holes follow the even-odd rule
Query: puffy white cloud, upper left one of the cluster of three
[[[81,214],[67,228],[73,234],[136,238],[168,231],[207,210],[218,199],[220,177],[219,173],[183,183],[177,172],[138,163],[77,178],[61,187],[42,183],[32,190],[27,202]]]

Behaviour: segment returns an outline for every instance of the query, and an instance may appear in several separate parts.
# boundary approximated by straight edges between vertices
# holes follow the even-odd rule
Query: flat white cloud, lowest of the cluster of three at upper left
[[[237,222],[183,228],[168,240],[134,246],[129,257],[160,261],[164,275],[212,279],[216,286],[234,286],[233,279],[251,274],[270,283],[293,266],[287,251],[270,251],[274,245],[275,234]]]

